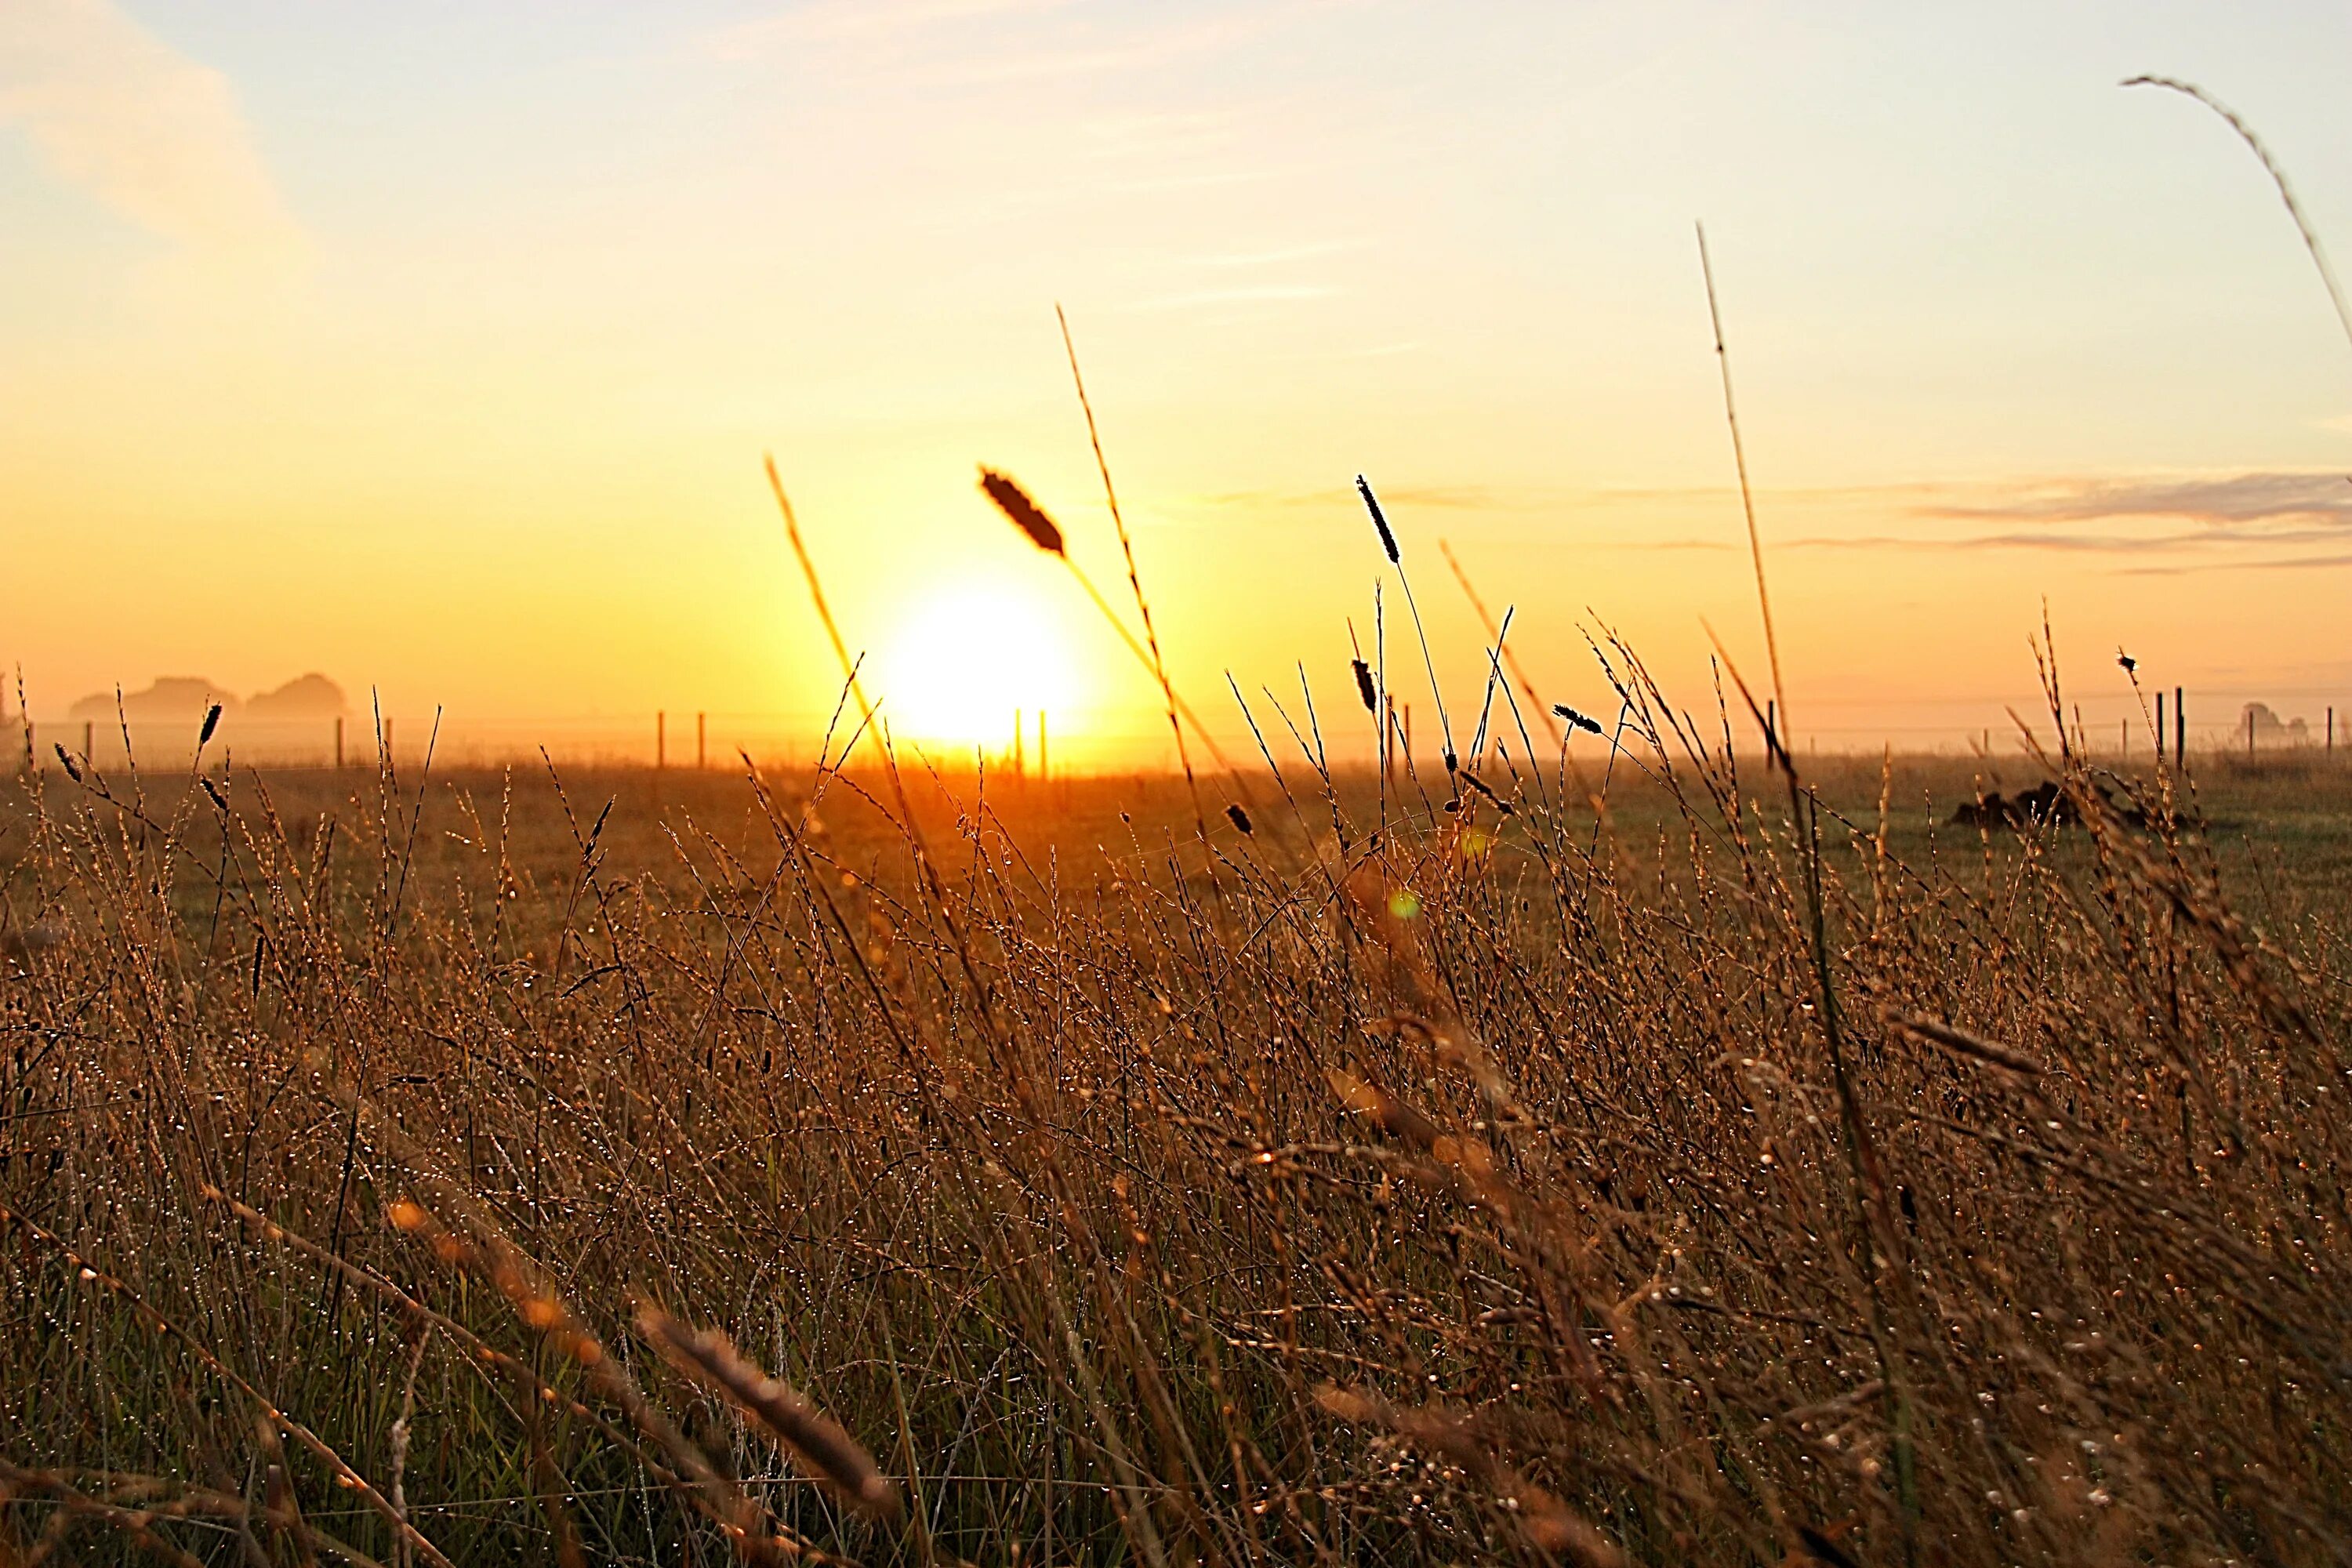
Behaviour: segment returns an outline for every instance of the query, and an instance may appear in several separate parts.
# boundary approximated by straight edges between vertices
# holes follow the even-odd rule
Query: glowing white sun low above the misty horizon
[[[1080,661],[1058,607],[1023,583],[969,576],[908,607],[875,672],[891,736],[929,745],[1011,748],[1014,717],[1035,743],[1037,715],[1080,729]]]

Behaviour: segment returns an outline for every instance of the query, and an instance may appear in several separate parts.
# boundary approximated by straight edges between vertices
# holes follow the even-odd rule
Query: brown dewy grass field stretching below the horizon
[[[1635,717],[0,783],[0,1561],[2352,1556],[2352,769]]]

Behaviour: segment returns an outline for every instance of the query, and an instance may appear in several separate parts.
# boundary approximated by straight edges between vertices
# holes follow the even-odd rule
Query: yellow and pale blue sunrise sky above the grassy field
[[[2340,5],[5,0],[0,663],[322,670],[456,731],[894,733],[1044,705],[1167,752],[1016,475],[1230,745],[1362,748],[1489,637],[1604,717],[1623,637],[1766,682],[1705,221],[1795,731],[1952,745],[2352,712],[2352,343],[2249,148],[2352,249]],[[1712,628],[1712,637],[1710,637]],[[1141,628],[1136,628],[1141,630]],[[1228,684],[1230,682],[1230,684]],[[1279,710],[1275,701],[1279,698]],[[14,679],[9,691],[14,708]],[[1287,717],[1284,717],[1287,715]],[[964,733],[969,731],[969,733]]]

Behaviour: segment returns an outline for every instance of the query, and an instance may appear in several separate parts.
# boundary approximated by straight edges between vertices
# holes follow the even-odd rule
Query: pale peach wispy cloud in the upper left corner
[[[191,249],[301,244],[228,78],[111,0],[0,5],[0,125],[21,127],[61,179]]]

